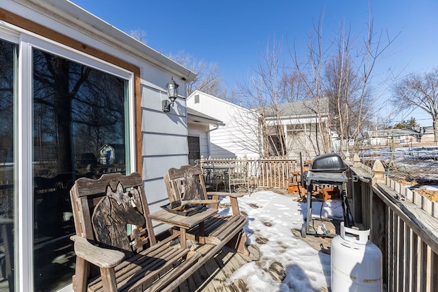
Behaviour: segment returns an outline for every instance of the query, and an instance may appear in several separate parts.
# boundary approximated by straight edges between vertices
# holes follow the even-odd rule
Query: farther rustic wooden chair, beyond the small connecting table
[[[164,175],[164,182],[166,183],[170,203],[183,202],[184,200],[211,199],[216,202],[205,204],[205,207],[218,209],[220,196],[229,197],[232,215],[223,216],[216,214],[210,217],[202,226],[196,226],[188,230],[187,239],[196,240],[201,243],[225,244],[237,250],[237,252],[245,255],[249,254],[246,249],[246,234],[243,231],[243,227],[246,225],[246,218],[240,214],[237,202],[237,198],[242,197],[243,194],[207,191],[201,165],[183,165],[181,168],[170,168]],[[178,232],[178,230],[174,230],[174,233]],[[231,233],[233,233],[233,239],[229,240]],[[223,242],[225,239],[227,239],[227,243]]]

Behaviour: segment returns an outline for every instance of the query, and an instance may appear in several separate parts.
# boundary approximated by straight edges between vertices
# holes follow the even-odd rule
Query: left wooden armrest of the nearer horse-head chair
[[[109,250],[107,248],[100,248],[87,239],[78,235],[70,237],[75,241],[75,254],[80,258],[92,263],[98,267],[112,268],[116,267],[125,259],[125,254],[118,250]]]

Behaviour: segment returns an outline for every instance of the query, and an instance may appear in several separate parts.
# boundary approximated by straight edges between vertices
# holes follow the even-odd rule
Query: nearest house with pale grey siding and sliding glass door
[[[188,163],[196,75],[66,0],[1,0],[0,65],[0,289],[72,291],[71,185],[99,177],[87,165],[105,145],[161,209],[164,174]],[[171,78],[180,98],[164,112]]]

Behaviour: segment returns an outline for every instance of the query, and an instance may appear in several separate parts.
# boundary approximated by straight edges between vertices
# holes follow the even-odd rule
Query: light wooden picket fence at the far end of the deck
[[[289,186],[294,176],[300,172],[299,159],[217,159],[201,158],[198,163],[211,163],[216,168],[227,168],[233,163],[239,169],[246,169],[248,184],[259,188],[285,188]]]

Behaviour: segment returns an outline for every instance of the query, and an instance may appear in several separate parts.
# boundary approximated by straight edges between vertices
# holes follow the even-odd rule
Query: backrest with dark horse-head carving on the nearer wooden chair
[[[140,174],[79,178],[70,198],[77,235],[127,256],[156,243]]]

